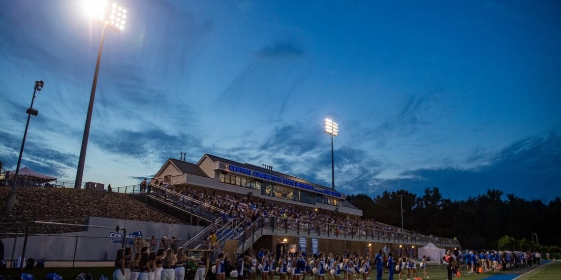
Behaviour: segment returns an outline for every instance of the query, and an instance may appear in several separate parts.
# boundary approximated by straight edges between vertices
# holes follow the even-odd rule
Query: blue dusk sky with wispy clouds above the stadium
[[[211,153],[330,185],[561,195],[558,1],[131,1],[108,31],[84,181]],[[73,182],[102,24],[0,2],[0,160]]]

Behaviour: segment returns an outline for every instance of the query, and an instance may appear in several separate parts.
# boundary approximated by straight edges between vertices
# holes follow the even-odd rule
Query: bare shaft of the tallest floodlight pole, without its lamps
[[[99,64],[102,62],[103,41],[105,40],[105,28],[107,24],[103,24],[102,41],[99,44],[98,61],[95,64],[94,82],[91,85],[90,104],[88,105],[88,115],[86,116],[86,124],[84,125],[84,136],[82,137],[82,148],[80,149],[80,159],[78,161],[78,170],[76,171],[76,181],[74,188],[80,189],[82,186],[82,175],[84,175],[84,164],[86,162],[86,150],[88,150],[88,138],[90,137],[91,114],[94,110],[95,88],[98,86]]]

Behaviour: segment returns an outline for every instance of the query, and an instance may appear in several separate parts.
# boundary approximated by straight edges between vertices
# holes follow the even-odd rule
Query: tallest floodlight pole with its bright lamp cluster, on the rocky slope
[[[105,3],[102,2],[102,5]],[[99,8],[99,7],[98,7]],[[105,40],[105,29],[109,27],[114,31],[120,32],[121,30],[125,29],[125,19],[127,18],[127,10],[123,9],[121,6],[113,3],[111,8],[109,8],[109,18],[105,18],[105,13],[107,12],[107,8],[100,7],[99,8],[99,16],[100,20],[104,21],[103,24],[103,31],[102,31],[102,40],[99,44],[99,52],[98,52],[98,60],[95,64],[95,72],[94,72],[94,82],[91,85],[91,93],[90,93],[90,103],[88,105],[88,115],[86,115],[86,124],[84,125],[84,136],[82,137],[82,147],[80,149],[80,159],[78,160],[78,170],[76,171],[76,181],[74,183],[74,188],[79,189],[82,185],[82,176],[84,175],[84,165],[86,162],[86,150],[88,150],[88,138],[90,137],[90,123],[91,123],[91,114],[94,110],[94,100],[95,100],[95,88],[98,85],[98,74],[99,74],[99,64],[102,61],[102,50],[103,50],[103,41]]]

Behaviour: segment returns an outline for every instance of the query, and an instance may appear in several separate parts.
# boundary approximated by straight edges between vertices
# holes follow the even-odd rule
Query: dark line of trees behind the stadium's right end
[[[489,189],[466,200],[443,198],[437,187],[426,188],[422,196],[398,190],[376,197],[348,195],[349,202],[362,210],[366,219],[401,227],[424,235],[456,237],[463,248],[496,249],[508,235],[533,244],[561,245],[561,199],[549,203],[527,200],[514,194]],[[529,241],[532,240],[532,241]],[[524,241],[524,242],[526,242]]]

